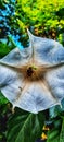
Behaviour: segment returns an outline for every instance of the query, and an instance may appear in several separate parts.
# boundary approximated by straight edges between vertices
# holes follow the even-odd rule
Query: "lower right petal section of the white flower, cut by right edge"
[[[50,92],[61,103],[64,98],[64,66],[48,71],[46,80],[50,86]]]

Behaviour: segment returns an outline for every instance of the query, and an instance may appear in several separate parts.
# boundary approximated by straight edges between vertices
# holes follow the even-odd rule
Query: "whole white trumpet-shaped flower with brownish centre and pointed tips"
[[[37,114],[64,98],[64,48],[29,31],[28,36],[29,47],[0,59],[0,90],[13,107]]]

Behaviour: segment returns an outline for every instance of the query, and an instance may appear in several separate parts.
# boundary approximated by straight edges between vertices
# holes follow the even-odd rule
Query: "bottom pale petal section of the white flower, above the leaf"
[[[31,83],[25,94],[21,95],[16,106],[37,114],[56,104],[59,104],[59,102],[44,86],[41,87],[39,83]]]

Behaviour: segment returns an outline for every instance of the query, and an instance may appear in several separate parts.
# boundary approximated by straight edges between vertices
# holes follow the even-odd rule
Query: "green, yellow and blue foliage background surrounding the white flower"
[[[28,46],[26,28],[64,45],[64,0],[0,0],[0,58],[16,46]],[[64,100],[62,108],[38,115],[18,108],[12,114],[11,104],[0,93],[0,142],[46,141],[64,142]]]

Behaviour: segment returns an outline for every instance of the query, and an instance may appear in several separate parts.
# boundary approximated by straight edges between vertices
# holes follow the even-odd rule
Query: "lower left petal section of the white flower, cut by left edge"
[[[0,91],[13,104],[24,86],[24,76],[13,68],[0,66]]]

